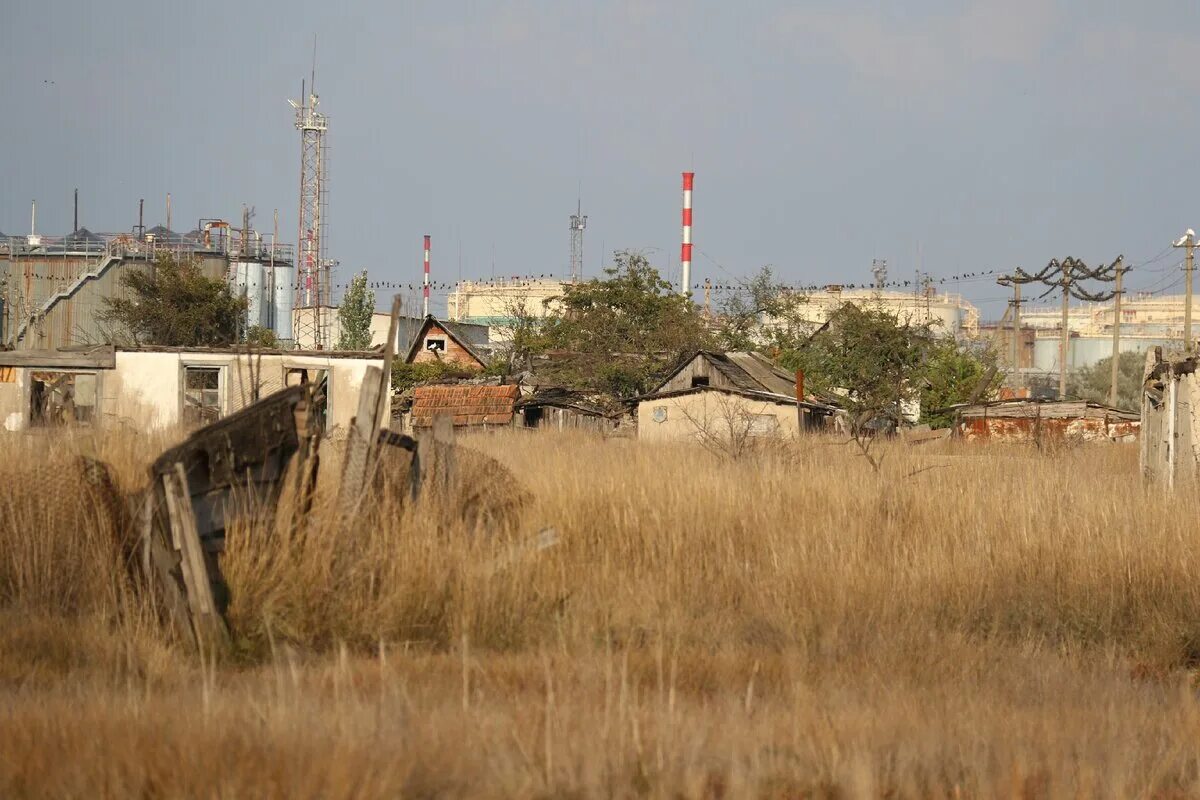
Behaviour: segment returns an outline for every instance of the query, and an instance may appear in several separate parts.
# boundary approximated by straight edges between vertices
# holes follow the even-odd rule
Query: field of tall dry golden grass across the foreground
[[[0,796],[1200,796],[1200,492],[1132,447],[469,438],[520,515],[235,530],[200,662],[71,468],[146,439],[0,439]]]

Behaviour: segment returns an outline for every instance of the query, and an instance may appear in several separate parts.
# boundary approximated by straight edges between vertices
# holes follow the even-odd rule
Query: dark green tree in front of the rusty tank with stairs
[[[106,297],[100,317],[114,338],[134,344],[223,347],[241,338],[245,297],[221,278],[209,278],[187,257],[160,253],[154,270],[127,270],[125,296]]]

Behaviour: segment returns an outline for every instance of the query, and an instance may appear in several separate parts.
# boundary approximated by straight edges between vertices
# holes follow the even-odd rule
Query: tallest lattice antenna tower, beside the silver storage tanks
[[[328,119],[317,110],[316,43],[313,73],[307,86],[300,83],[300,100],[289,100],[300,131],[300,229],[296,236],[296,342],[312,343],[318,350],[330,347],[329,325],[324,319],[332,300],[330,263],[325,258],[323,217],[325,216],[325,131]]]

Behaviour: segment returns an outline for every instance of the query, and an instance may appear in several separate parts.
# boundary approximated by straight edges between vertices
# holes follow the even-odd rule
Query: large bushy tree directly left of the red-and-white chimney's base
[[[566,356],[539,373],[582,389],[644,392],[686,353],[712,347],[696,306],[632,251],[614,254],[602,278],[566,287],[560,309],[526,343]]]

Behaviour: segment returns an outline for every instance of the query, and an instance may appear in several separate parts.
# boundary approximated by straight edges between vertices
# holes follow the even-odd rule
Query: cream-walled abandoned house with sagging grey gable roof
[[[701,350],[637,398],[637,438],[791,439],[820,428],[829,405],[797,402],[796,379],[758,353]]]

